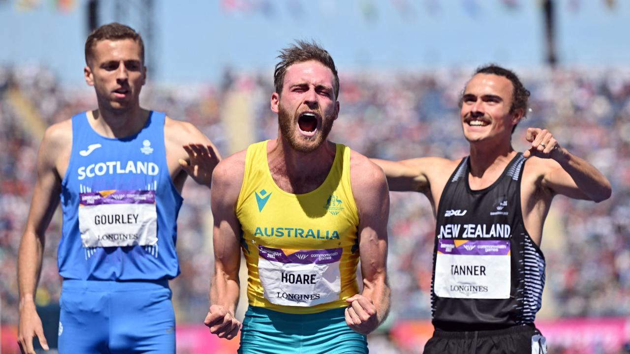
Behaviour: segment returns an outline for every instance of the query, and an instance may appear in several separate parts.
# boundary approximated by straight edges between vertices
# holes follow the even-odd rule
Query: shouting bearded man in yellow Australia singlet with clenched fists
[[[327,139],[339,113],[328,52],[298,41],[278,59],[278,138],[214,170],[215,271],[204,322],[221,338],[241,329],[239,353],[367,353],[365,336],[389,310],[386,179],[367,157]],[[234,318],[240,249],[243,324]]]

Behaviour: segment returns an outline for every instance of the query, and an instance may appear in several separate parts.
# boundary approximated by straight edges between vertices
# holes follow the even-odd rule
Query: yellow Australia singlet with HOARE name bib
[[[346,307],[359,259],[350,149],[336,144],[326,180],[309,193],[280,189],[268,166],[267,141],[249,146],[235,210],[249,305],[292,314]]]

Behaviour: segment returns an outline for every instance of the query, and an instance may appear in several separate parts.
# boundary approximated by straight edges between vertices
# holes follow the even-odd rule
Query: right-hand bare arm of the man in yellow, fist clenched
[[[352,191],[359,213],[358,237],[364,290],[347,299],[346,321],[354,331],[369,334],[387,317],[387,219],[389,192],[381,169],[359,154],[351,156]]]

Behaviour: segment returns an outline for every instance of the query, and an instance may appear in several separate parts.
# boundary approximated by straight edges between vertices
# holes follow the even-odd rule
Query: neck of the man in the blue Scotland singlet
[[[149,111],[134,106],[127,110],[108,110],[98,105],[98,110],[92,111],[90,125],[105,137],[123,138],[139,132],[149,118]]]

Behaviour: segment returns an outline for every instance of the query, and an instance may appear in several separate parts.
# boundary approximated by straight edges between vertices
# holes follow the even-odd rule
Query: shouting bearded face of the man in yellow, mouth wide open
[[[287,69],[282,93],[273,93],[280,134],[295,151],[311,152],[326,140],[339,113],[333,72],[316,60]]]

